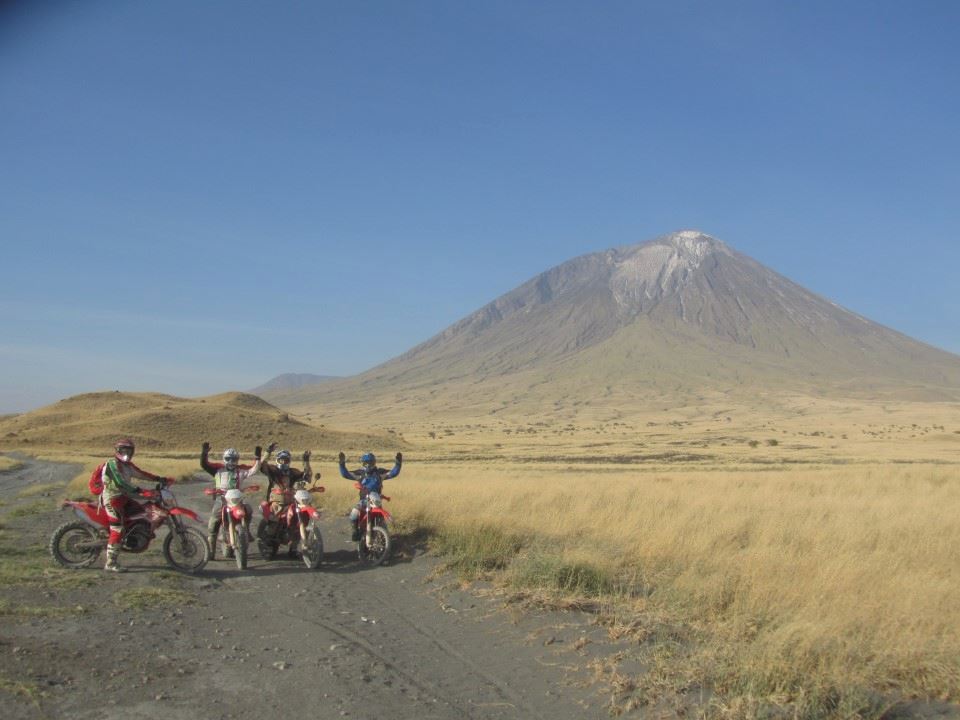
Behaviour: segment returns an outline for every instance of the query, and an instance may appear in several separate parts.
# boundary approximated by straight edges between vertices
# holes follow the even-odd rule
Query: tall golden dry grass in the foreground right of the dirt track
[[[399,517],[446,537],[456,562],[606,595],[641,639],[683,628],[664,669],[678,690],[809,716],[960,700],[952,467],[408,467],[385,492]],[[654,675],[631,679],[634,702]]]

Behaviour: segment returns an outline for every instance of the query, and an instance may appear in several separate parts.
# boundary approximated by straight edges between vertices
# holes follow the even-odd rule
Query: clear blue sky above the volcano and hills
[[[683,228],[960,352],[960,3],[0,4],[0,412],[365,370]]]

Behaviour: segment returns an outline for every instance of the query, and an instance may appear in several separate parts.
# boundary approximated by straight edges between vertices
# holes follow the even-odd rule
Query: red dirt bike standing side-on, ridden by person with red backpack
[[[123,522],[120,549],[141,553],[156,537],[156,531],[166,525],[169,533],[163,540],[163,556],[176,570],[195,573],[210,559],[207,538],[196,528],[187,527],[184,517],[199,521],[193,510],[177,505],[170,492],[173,480],[157,483],[155,490],[141,493],[146,501],[127,513]],[[73,508],[80,520],[64,523],[50,538],[50,554],[66,568],[84,568],[93,565],[107,547],[110,518],[100,502],[64,500],[63,507]]]

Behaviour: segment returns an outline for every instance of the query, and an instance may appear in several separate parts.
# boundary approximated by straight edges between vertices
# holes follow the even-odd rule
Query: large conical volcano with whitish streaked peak
[[[483,412],[757,390],[955,398],[960,357],[684,231],[563,263],[355,378],[267,396]]]

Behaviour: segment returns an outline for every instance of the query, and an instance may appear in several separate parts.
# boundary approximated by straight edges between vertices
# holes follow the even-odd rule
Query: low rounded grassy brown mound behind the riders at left
[[[97,392],[0,420],[0,448],[108,450],[120,436],[138,449],[193,452],[206,440],[215,448],[250,452],[276,441],[283,447],[335,451],[400,447],[396,436],[348,433],[291,417],[247,393],[179,398],[161,393]]]

